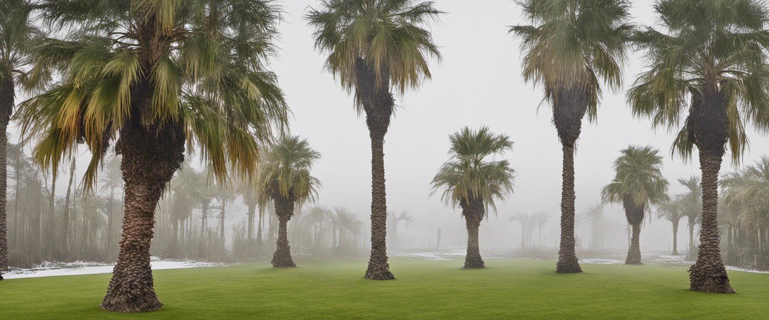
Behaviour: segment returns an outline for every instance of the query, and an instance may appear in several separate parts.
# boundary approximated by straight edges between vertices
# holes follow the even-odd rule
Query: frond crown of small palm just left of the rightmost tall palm
[[[667,180],[662,175],[662,157],[651,146],[630,146],[614,161],[614,179],[601,190],[604,203],[624,204],[630,196],[635,206],[648,208],[665,203]]]

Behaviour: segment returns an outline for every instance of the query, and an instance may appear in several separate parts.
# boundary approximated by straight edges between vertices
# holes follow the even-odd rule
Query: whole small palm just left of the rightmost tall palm
[[[630,146],[614,161],[614,180],[601,190],[604,203],[621,204],[633,228],[627,265],[641,264],[641,223],[652,205],[666,202],[667,180],[662,176],[662,157],[653,147]]]

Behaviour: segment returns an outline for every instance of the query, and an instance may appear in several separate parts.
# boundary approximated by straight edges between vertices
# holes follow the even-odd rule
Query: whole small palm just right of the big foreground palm
[[[272,266],[292,268],[296,264],[291,259],[291,247],[288,246],[288,220],[294,215],[294,206],[307,200],[315,200],[321,182],[310,175],[315,161],[321,153],[313,150],[307,140],[299,137],[281,137],[261,164],[260,170],[260,206],[275,201],[275,215],[278,216],[278,242]]]

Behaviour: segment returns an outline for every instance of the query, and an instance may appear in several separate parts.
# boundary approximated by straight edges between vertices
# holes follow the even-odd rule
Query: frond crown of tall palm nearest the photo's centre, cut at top
[[[392,85],[401,94],[431,77],[428,58],[441,54],[423,26],[443,13],[434,2],[322,0],[320,6],[305,18],[315,28],[315,48],[328,52],[325,68],[343,87],[355,87],[360,61],[373,70],[377,87]]]

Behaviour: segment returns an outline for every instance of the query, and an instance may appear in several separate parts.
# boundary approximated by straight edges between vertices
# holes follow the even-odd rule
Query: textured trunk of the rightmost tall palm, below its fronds
[[[721,153],[722,154],[722,153]],[[702,224],[697,262],[689,269],[690,288],[694,291],[734,293],[721,260],[718,235],[718,171],[721,154],[700,151],[702,170]]]

